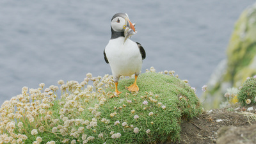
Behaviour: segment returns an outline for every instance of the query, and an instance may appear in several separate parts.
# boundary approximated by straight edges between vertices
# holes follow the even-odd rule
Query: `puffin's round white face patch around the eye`
[[[111,27],[114,31],[124,31],[126,25],[127,22],[123,17],[115,17],[115,19],[111,21]]]

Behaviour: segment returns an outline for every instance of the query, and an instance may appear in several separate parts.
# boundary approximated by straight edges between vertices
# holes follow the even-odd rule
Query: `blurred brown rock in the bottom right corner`
[[[221,127],[218,131],[217,144],[250,144],[256,143],[256,125],[249,127]]]

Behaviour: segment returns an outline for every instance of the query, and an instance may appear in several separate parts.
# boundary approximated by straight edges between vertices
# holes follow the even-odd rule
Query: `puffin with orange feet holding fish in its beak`
[[[137,31],[134,28],[127,13],[116,13],[111,19],[111,38],[104,49],[104,60],[109,63],[115,82],[115,92],[120,76],[131,76],[135,74],[134,83],[127,88],[130,92],[138,92],[136,83],[140,74],[142,61],[146,58],[146,52],[138,42],[130,40]]]

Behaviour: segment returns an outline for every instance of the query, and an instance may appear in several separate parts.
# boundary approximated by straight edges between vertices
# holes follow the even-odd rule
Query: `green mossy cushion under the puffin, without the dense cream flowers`
[[[104,109],[109,109],[106,113],[109,115],[115,107],[119,109],[123,104],[127,104],[127,100],[132,100],[129,106],[122,108],[122,111],[117,111],[118,115],[122,116],[116,116],[115,119],[140,127],[139,134],[132,134],[131,130],[127,132],[126,135],[131,139],[124,140],[125,142],[150,143],[159,140],[165,141],[167,138],[173,141],[178,140],[181,118],[192,118],[202,111],[194,90],[176,77],[153,72],[141,74],[137,81],[140,91],[136,95],[125,95],[128,92],[125,88],[132,83],[134,83],[134,79],[120,80],[118,90],[122,93],[118,98],[111,99],[108,105],[104,105]],[[150,100],[150,97],[157,101],[152,102],[154,100]],[[142,104],[144,100],[148,101],[147,106]],[[161,106],[166,106],[166,108],[163,109]],[[143,108],[147,109],[144,110]],[[131,114],[132,109],[136,111],[133,114]],[[154,115],[148,116],[151,111]],[[102,113],[102,115],[104,114]],[[134,115],[138,115],[140,118],[134,120]],[[151,130],[150,134],[146,133],[147,129]],[[122,132],[122,127],[118,131],[120,130],[121,134],[125,135],[125,132]]]

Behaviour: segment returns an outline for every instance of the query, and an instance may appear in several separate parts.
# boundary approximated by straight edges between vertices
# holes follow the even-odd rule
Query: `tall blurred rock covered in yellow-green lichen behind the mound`
[[[241,13],[227,48],[227,60],[220,62],[208,82],[206,108],[218,108],[227,88],[238,88],[256,75],[256,3]]]

